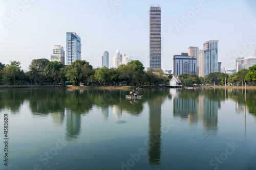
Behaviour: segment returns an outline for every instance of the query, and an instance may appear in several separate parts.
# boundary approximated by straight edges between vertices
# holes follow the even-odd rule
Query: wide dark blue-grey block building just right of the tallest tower
[[[187,53],[174,55],[174,76],[184,73],[197,74],[197,59],[188,56]]]

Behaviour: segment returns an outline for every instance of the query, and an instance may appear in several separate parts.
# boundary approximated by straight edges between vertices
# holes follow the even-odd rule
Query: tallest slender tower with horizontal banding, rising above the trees
[[[161,7],[150,7],[150,67],[161,68]]]

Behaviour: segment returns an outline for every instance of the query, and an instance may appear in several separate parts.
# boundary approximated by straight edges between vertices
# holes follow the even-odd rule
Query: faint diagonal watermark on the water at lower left
[[[55,144],[55,147],[51,148],[49,151],[46,151],[44,154],[41,154],[39,156],[39,160],[43,162],[43,165],[47,165],[49,163],[49,159],[53,159],[54,156],[58,154],[58,151],[62,150],[67,145],[67,141],[65,141],[65,137],[62,137],[62,140],[60,138],[57,138],[57,142]],[[33,166],[34,170],[41,170],[41,166],[39,164],[34,164]]]

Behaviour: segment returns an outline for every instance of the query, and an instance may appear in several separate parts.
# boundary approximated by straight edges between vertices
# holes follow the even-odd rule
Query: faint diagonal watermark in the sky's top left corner
[[[25,11],[30,8],[31,3],[34,3],[36,0],[20,0],[20,5],[16,9],[11,9],[10,17],[4,16],[5,23],[7,27],[10,27],[10,24],[15,22],[20,15],[24,14]]]

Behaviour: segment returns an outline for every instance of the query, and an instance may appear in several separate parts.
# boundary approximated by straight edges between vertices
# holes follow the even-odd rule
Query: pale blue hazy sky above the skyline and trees
[[[19,61],[29,70],[33,59],[50,60],[54,45],[66,48],[66,32],[81,38],[82,60],[101,66],[117,49],[148,67],[149,9],[161,10],[162,69],[189,46],[219,40],[219,62],[235,68],[236,57],[251,57],[256,47],[254,0],[0,0],[0,62]]]

